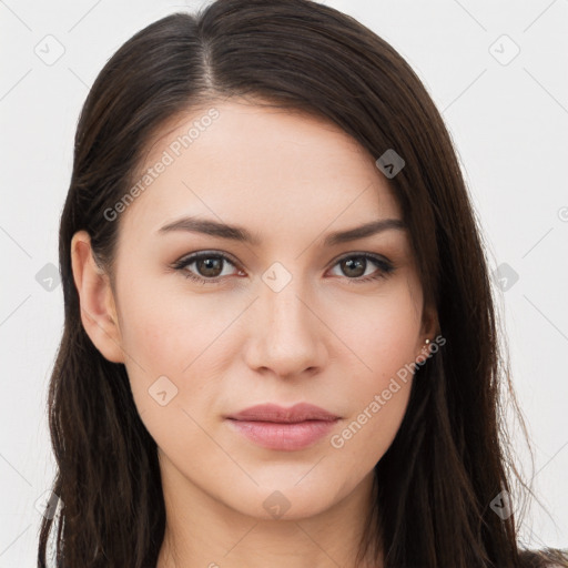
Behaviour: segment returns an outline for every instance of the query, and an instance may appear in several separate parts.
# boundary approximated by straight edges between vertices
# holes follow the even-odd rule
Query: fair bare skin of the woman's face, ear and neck
[[[423,303],[406,231],[323,244],[334,231],[402,219],[377,156],[315,116],[236,100],[214,106],[219,119],[114,221],[114,286],[89,235],[73,236],[82,322],[101,354],[125,365],[159,446],[168,515],[159,568],[352,567],[373,468],[400,425],[412,377],[341,448],[329,435],[302,450],[266,449],[224,416],[308,402],[338,415],[332,435],[341,434],[424,355],[436,314]],[[204,114],[164,125],[144,168]],[[241,225],[260,243],[158,234],[183,215]],[[220,284],[196,284],[184,277],[200,274],[196,263],[171,266],[199,251],[237,263],[222,265]],[[338,261],[363,252],[395,271],[356,283],[362,276]],[[292,276],[280,292],[262,280],[275,262]],[[363,270],[382,272],[372,261]],[[149,394],[160,376],[178,388],[164,406]],[[290,504],[278,518],[263,506],[276,490]]]

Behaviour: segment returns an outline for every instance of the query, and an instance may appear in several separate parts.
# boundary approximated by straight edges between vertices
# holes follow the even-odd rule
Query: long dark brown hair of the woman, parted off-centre
[[[61,215],[64,329],[47,402],[62,506],[42,520],[38,566],[48,566],[51,535],[59,567],[155,567],[165,530],[156,444],[124,365],[105,359],[82,326],[71,240],[85,230],[112,276],[120,220],[104,212],[128,193],[156,133],[231,98],[320,116],[375,159],[392,149],[405,162],[387,183],[446,344],[416,371],[375,466],[357,565],[382,550],[386,568],[568,566],[562,550],[523,550],[516,515],[501,519],[490,506],[511,479],[526,485],[504,428],[503,393],[513,389],[488,262],[450,135],[392,45],[310,0],[217,0],[168,16],[129,39],[89,92]]]

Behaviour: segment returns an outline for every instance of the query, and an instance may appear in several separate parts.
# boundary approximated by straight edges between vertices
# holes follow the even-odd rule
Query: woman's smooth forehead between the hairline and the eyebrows
[[[342,226],[399,217],[374,156],[337,125],[239,100],[172,118],[150,142],[134,183],[142,191],[122,219],[130,232],[155,232],[181,214],[281,231],[339,216]]]

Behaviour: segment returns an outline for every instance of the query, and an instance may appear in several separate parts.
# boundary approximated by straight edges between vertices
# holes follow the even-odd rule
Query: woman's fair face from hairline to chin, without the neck
[[[164,476],[246,515],[274,516],[272,499],[302,518],[368,489],[406,410],[400,369],[434,327],[376,156],[313,116],[211,108],[163,129],[151,181],[108,213],[114,290],[85,286],[77,253],[83,322],[124,363]],[[382,220],[398,222],[353,231]],[[227,418],[298,403],[336,419]]]

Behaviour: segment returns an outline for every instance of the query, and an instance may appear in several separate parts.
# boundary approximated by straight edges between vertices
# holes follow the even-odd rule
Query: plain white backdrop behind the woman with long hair
[[[568,1],[325,3],[399,51],[452,133],[535,448],[531,469],[515,443],[541,503],[527,515],[524,544],[566,547]],[[58,225],[80,109],[125,40],[201,4],[0,1],[0,568],[36,566],[36,503],[53,476],[45,396],[63,323]]]

